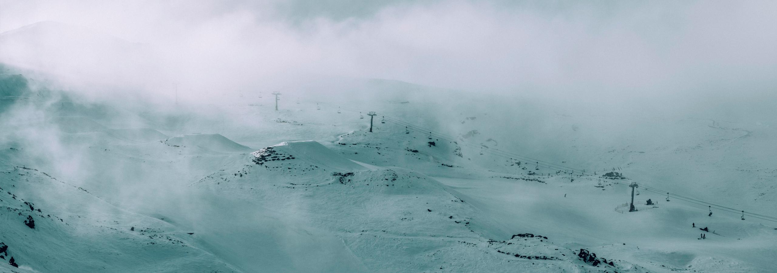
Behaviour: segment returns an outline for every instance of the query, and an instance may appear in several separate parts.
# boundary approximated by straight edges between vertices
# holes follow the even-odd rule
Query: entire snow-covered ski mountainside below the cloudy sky
[[[280,111],[241,101],[175,114],[77,98],[52,107],[8,101],[0,242],[9,246],[2,255],[26,269],[0,268],[772,271],[777,235],[768,221],[707,216],[706,206],[643,188],[639,211],[623,209],[633,180],[773,215],[768,124],[642,116],[628,120],[640,126],[619,131],[624,120],[521,112],[531,108],[507,111],[516,119],[507,123],[499,107],[430,97],[342,103],[382,108],[454,139],[382,116],[370,133],[364,112],[304,101]],[[433,115],[441,111],[430,106],[435,100],[456,111]],[[490,153],[494,147],[591,172],[557,172]],[[629,179],[589,167],[601,165]]]

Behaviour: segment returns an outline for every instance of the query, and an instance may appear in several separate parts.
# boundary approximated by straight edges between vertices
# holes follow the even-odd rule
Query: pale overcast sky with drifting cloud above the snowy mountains
[[[316,74],[577,95],[777,87],[774,1],[0,0],[0,31],[45,20],[146,44],[192,81],[207,71],[245,85]]]

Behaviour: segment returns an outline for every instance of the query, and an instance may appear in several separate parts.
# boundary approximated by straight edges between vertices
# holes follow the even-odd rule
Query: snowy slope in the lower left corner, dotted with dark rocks
[[[0,151],[3,158],[22,153]],[[0,170],[0,271],[232,272],[190,230],[127,212],[37,169],[3,160]]]

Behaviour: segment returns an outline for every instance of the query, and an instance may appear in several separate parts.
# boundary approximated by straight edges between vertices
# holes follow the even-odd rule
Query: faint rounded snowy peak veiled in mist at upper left
[[[0,63],[56,76],[61,81],[126,85],[146,76],[152,50],[143,43],[61,22],[36,22],[0,33]]]

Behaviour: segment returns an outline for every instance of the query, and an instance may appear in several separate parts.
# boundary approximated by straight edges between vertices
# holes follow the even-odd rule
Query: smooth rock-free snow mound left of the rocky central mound
[[[162,140],[162,143],[174,147],[200,147],[206,150],[213,150],[225,154],[241,154],[251,150],[251,148],[240,145],[218,133],[192,133],[170,137]]]

